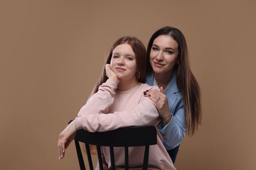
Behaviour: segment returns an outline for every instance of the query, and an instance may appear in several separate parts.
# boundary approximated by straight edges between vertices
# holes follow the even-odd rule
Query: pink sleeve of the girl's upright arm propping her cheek
[[[79,110],[77,116],[85,116],[87,114],[103,113],[114,101],[115,91],[117,89],[116,82],[106,80],[99,86],[98,92],[94,93],[87,103]]]

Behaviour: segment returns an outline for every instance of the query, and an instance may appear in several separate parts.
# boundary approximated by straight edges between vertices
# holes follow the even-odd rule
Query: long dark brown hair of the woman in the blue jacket
[[[179,29],[169,26],[162,27],[152,35],[147,48],[147,72],[153,71],[150,65],[150,50],[154,39],[160,35],[169,35],[178,43],[179,56],[177,61],[179,61],[179,65],[176,65],[174,69],[177,70],[177,86],[183,96],[188,135],[194,135],[202,120],[200,86],[190,70],[186,39]]]

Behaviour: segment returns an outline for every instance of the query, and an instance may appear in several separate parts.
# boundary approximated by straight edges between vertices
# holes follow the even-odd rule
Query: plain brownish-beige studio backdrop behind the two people
[[[58,134],[95,84],[117,38],[147,45],[184,33],[202,88],[203,121],[177,169],[256,169],[255,1],[0,1],[0,169],[78,169]]]

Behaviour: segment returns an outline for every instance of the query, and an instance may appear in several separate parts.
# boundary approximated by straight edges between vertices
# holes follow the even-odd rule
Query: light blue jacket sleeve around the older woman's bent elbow
[[[163,141],[170,146],[170,149],[178,146],[186,132],[184,107],[176,110],[173,118],[167,125],[159,124],[158,130],[163,135]]]

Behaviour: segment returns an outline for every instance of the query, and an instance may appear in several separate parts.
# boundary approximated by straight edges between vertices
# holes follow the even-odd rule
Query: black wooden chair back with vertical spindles
[[[70,122],[72,122],[72,120]],[[103,169],[100,146],[110,147],[112,169],[115,169],[114,147],[124,147],[125,169],[129,169],[129,147],[145,146],[142,169],[148,169],[149,146],[157,143],[157,133],[155,126],[121,127],[112,131],[97,131],[95,133],[91,133],[84,129],[79,129],[75,135],[74,141],[79,166],[82,170],[85,169],[85,163],[83,161],[83,155],[81,153],[79,142],[85,143],[88,163],[91,170],[93,170],[93,161],[91,158],[89,144],[96,145],[100,169]]]

